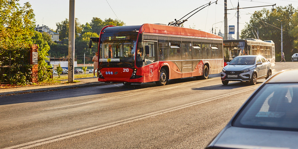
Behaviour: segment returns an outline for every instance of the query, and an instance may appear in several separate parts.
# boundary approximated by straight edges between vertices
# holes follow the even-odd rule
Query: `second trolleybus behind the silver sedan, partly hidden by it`
[[[260,39],[224,40],[224,66],[239,55],[262,55],[275,66],[274,42]]]

